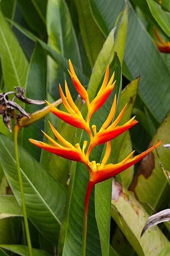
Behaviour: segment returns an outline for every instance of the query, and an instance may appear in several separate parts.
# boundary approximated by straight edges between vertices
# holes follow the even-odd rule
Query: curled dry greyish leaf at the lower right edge
[[[154,226],[154,225],[157,225],[161,222],[164,222],[164,221],[169,221],[170,220],[170,209],[165,209],[161,212],[158,212],[156,214],[153,214],[151,215],[148,219],[147,219],[147,222],[146,224],[144,225],[144,228],[142,230],[142,233],[141,233],[141,237],[143,236],[144,232]]]

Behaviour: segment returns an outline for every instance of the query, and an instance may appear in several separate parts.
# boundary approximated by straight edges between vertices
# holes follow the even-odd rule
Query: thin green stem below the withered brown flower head
[[[16,162],[17,162],[18,179],[19,179],[19,183],[20,183],[21,201],[22,201],[22,207],[23,207],[23,216],[24,216],[24,223],[25,223],[25,228],[26,228],[28,250],[29,250],[29,255],[32,256],[31,239],[30,239],[28,219],[27,219],[27,213],[26,213],[26,204],[25,204],[25,198],[24,198],[23,180],[22,180],[22,176],[21,176],[20,161],[19,161],[19,155],[18,155],[18,144],[17,144],[18,131],[19,131],[19,126],[15,125],[14,126],[15,157],[16,157]]]

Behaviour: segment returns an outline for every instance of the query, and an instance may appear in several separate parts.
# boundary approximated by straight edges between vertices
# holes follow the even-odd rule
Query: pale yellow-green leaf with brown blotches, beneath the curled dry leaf
[[[150,228],[140,238],[149,215],[135,199],[133,193],[116,181],[113,181],[111,216],[139,256],[157,255],[168,243],[158,227]]]

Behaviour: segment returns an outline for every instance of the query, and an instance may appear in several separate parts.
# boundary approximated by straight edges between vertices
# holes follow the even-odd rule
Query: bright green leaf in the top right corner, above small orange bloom
[[[146,0],[146,2],[161,29],[170,37],[170,13],[165,12],[161,5],[153,0]]]

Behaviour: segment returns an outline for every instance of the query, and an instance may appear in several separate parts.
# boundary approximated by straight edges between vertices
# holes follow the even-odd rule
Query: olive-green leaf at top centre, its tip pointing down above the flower
[[[102,45],[105,42],[105,38],[91,16],[88,0],[75,0],[74,2],[77,7],[83,43],[85,45],[91,67],[93,67],[96,58],[102,49]]]

